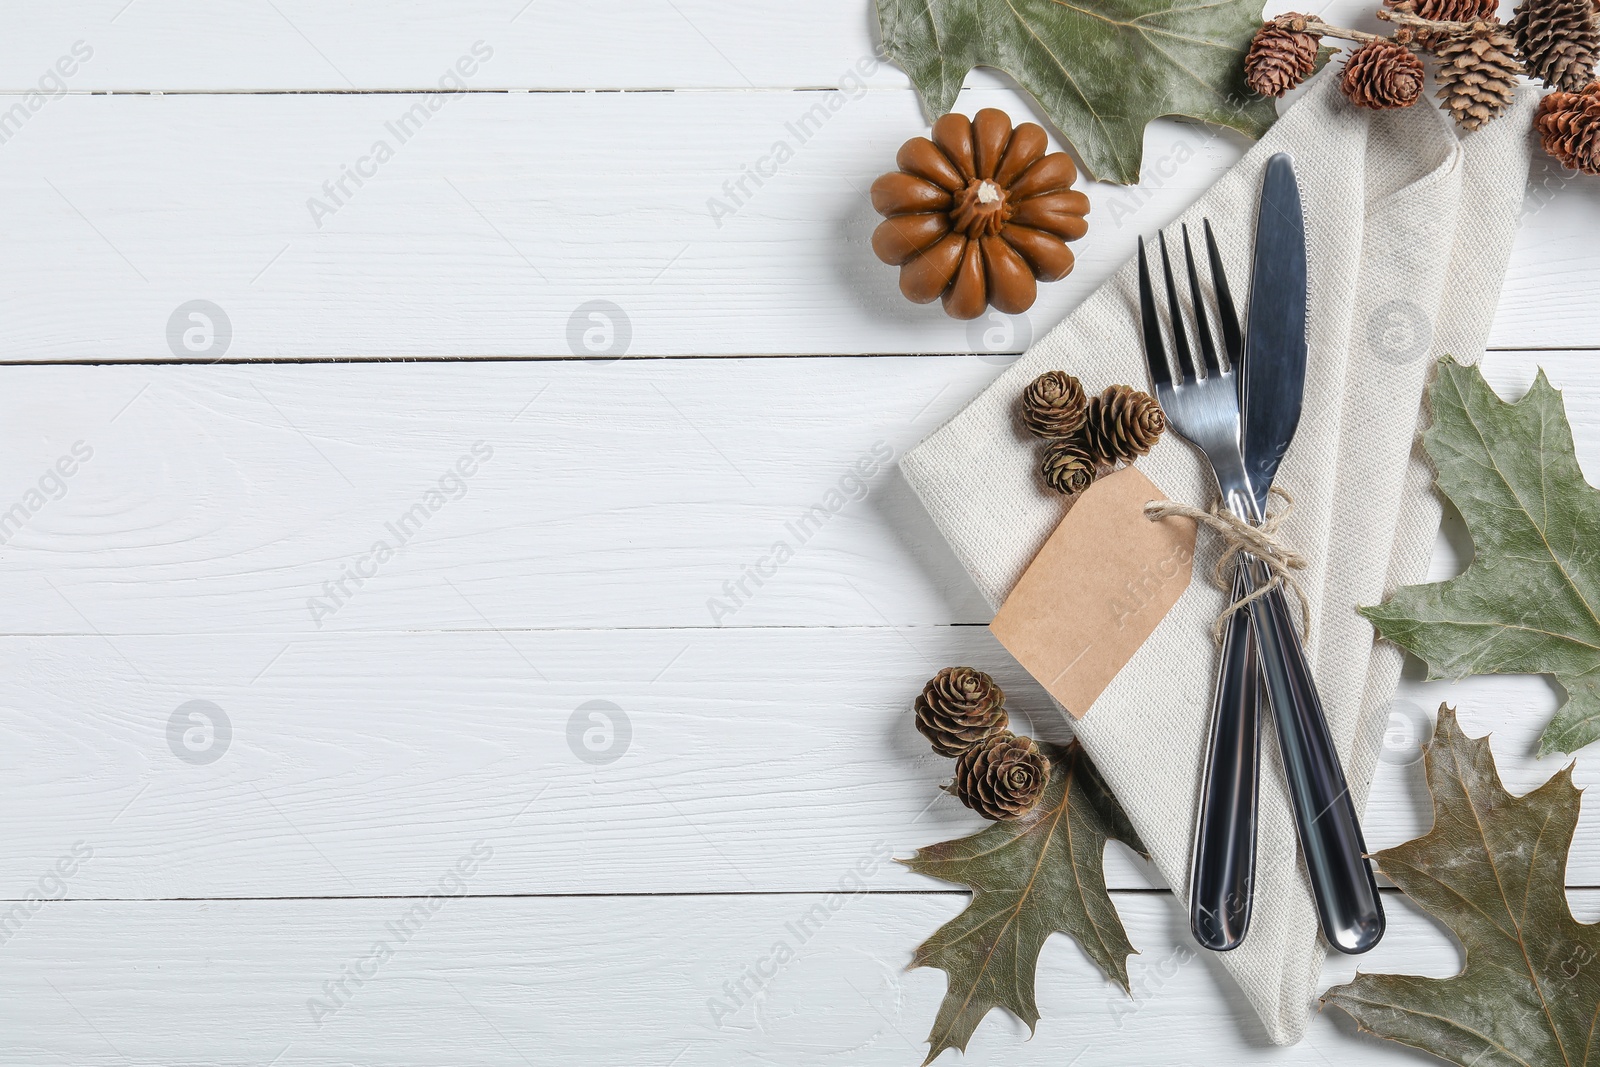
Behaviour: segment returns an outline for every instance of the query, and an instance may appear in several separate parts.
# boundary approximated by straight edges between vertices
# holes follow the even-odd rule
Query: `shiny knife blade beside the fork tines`
[[[1299,427],[1306,392],[1306,216],[1294,165],[1278,152],[1267,160],[1261,182],[1240,386],[1245,469],[1262,512],[1283,453]]]

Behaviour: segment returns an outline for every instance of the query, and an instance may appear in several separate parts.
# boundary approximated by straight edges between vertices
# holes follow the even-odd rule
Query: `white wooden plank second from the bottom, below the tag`
[[[819,891],[872,849],[982,822],[941,793],[910,701],[971,664],[1018,731],[1066,741],[982,627],[40,637],[0,641],[0,870],[75,841],[74,897],[418,893],[462,840],[502,843],[475,893]],[[1197,669],[1200,669],[1197,665]],[[1555,696],[1539,678],[1406,681],[1366,813],[1427,830],[1416,729],[1440,701],[1493,731],[1522,792]],[[1182,773],[1152,768],[1152,774]],[[1578,757],[1578,784],[1600,753]],[[1568,865],[1600,885],[1595,813]],[[1123,846],[1120,888],[1160,885]],[[885,864],[877,889],[938,886]]]

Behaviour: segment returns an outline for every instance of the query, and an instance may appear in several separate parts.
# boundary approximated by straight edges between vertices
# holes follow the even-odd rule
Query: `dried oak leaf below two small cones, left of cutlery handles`
[[[902,861],[918,873],[973,889],[966,910],[928,937],[912,960],[912,966],[934,966],[950,979],[928,1033],[925,1064],[947,1048],[966,1051],[973,1030],[995,1006],[1034,1029],[1034,971],[1038,950],[1056,931],[1070,934],[1128,989],[1133,945],[1106,891],[1106,841],[1117,838],[1141,856],[1149,853],[1077,741],[1045,750],[1050,782],[1038,808]]]

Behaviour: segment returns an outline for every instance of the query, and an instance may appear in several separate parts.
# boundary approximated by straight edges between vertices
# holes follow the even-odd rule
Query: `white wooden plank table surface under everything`
[[[970,662],[1062,725],[898,475],[850,466],[1243,142],[1155,123],[1144,186],[1088,187],[1078,270],[968,330],[867,248],[925,120],[866,0],[3,14],[0,1062],[920,1062],[944,977],[904,966],[965,897],[883,857],[981,824],[910,697]],[[1032,110],[981,72],[984,104]],[[1486,360],[1509,392],[1549,370],[1590,470],[1597,232],[1600,182],[1536,165]],[[1435,573],[1469,550],[1446,523]],[[1411,675],[1398,725],[1450,699],[1514,789],[1562,763],[1530,755],[1546,680]],[[1427,825],[1411,757],[1374,846]],[[1267,1045],[1110,853],[1133,998],[1054,937],[1037,1037],[995,1013],[942,1062],[1421,1061],[1331,1014]],[[1600,912],[1592,811],[1568,881]],[[1459,966],[1389,907],[1363,968]]]

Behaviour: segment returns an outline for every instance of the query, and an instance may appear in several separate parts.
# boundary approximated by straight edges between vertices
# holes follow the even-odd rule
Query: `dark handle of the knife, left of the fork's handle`
[[[1234,600],[1243,595],[1240,566],[1234,571]],[[1259,678],[1250,616],[1235,611],[1222,638],[1189,877],[1189,929],[1213,952],[1237,949],[1250,929],[1261,777]]]

